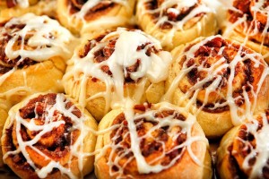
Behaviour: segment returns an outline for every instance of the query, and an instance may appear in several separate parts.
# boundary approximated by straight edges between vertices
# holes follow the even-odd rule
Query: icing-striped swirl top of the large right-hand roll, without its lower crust
[[[191,108],[193,105],[197,107],[195,114],[206,108],[216,112],[218,109],[230,109],[235,125],[252,118],[257,96],[268,76],[268,66],[261,55],[221,36],[213,36],[189,45],[180,59],[181,70],[171,82],[163,100],[170,101],[179,86],[184,94],[178,99],[178,105],[182,106],[187,101],[184,106],[188,110],[194,110]],[[247,71],[248,68],[251,70]],[[259,75],[256,80],[253,73]],[[246,78],[250,79],[246,81]],[[184,85],[182,81],[189,84]],[[212,94],[215,98],[211,97]]]

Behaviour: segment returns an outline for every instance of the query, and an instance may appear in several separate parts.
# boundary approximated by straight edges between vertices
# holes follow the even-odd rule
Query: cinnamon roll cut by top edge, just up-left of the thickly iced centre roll
[[[133,24],[135,0],[58,0],[61,23],[76,34],[100,32]]]

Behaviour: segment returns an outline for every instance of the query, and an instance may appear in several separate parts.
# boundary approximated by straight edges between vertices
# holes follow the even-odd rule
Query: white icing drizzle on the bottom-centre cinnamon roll
[[[146,104],[144,104],[144,107],[147,107]],[[195,124],[195,116],[188,114],[186,116],[185,121],[178,120],[176,118],[177,113],[182,113],[184,110],[183,108],[180,107],[175,107],[169,103],[162,102],[160,104],[153,105],[151,108],[146,108],[146,110],[142,113],[135,113],[134,112],[134,101],[130,98],[126,98],[126,106],[122,108],[124,111],[124,115],[126,118],[127,122],[127,128],[128,132],[122,137],[125,139],[128,135],[130,136],[130,148],[126,148],[124,145],[121,145],[122,141],[118,142],[117,144],[114,142],[121,134],[118,133],[120,132],[124,125],[120,124],[117,127],[117,132],[115,136],[111,139],[112,143],[109,143],[108,146],[104,146],[102,150],[107,151],[107,149],[111,149],[109,157],[108,157],[108,166],[109,166],[109,174],[110,176],[117,176],[117,178],[134,178],[133,175],[126,175],[124,174],[125,167],[132,161],[135,160],[136,165],[137,165],[137,170],[139,174],[150,174],[150,173],[159,173],[165,169],[168,169],[169,167],[173,166],[176,164],[179,158],[182,157],[184,152],[188,152],[190,158],[193,159],[196,165],[198,166],[204,166],[203,162],[200,161],[198,156],[195,155],[195,151],[191,149],[191,145],[197,141],[204,141],[206,144],[208,144],[208,141],[204,136],[192,136],[192,129],[193,125]],[[156,113],[161,113],[163,111],[167,110],[173,110],[175,111],[174,114],[168,115],[166,117],[156,117]],[[135,121],[139,119],[144,119],[145,123],[156,123],[156,125],[153,125],[151,129],[148,129],[146,133],[144,133],[142,136],[139,136],[138,131],[137,131],[137,126],[142,124],[142,122],[135,123]],[[178,136],[180,133],[185,133],[187,135],[186,141],[181,143],[178,146],[175,146],[172,149],[166,149],[164,141],[158,141],[152,136],[152,132],[161,129],[161,127],[168,127],[168,135],[169,138],[172,139],[173,141],[176,141],[178,139]],[[179,128],[179,132],[175,130],[175,128]],[[151,139],[151,141],[156,141],[161,143],[161,148],[162,148],[162,154],[159,157],[152,158],[151,161],[146,161],[145,158],[143,157],[142,149],[140,148],[140,143],[142,142],[143,139]],[[117,152],[119,148],[124,148],[120,152],[120,154]],[[173,151],[174,149],[182,149],[181,153],[179,153],[175,158],[172,158],[169,164],[167,165],[161,165],[161,164],[154,164],[154,162],[157,162],[158,160],[160,161],[162,158],[165,158],[169,152]],[[131,157],[128,157],[126,160],[126,163],[120,163],[120,161],[123,158],[126,158],[126,155],[129,153],[132,153],[133,155]],[[102,151],[98,156],[100,158],[103,156],[106,152]],[[114,155],[117,155],[115,157]],[[114,156],[114,157],[113,157]],[[202,157],[203,158],[203,157]],[[97,159],[98,160],[98,159]],[[158,163],[158,162],[157,162]],[[113,166],[117,166],[117,171],[113,171]]]

